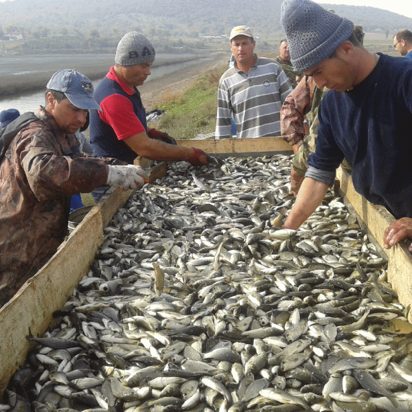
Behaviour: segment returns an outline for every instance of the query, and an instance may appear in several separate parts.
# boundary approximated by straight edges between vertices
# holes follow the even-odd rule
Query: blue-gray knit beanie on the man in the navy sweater
[[[354,23],[310,0],[284,0],[280,13],[295,69],[319,65],[352,34]]]

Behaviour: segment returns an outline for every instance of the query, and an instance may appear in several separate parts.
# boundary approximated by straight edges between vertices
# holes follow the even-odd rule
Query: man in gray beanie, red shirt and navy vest
[[[189,161],[206,165],[203,150],[184,148],[167,133],[146,124],[146,111],[137,87],[150,75],[155,49],[138,32],[129,32],[117,45],[115,66],[96,87],[94,98],[102,111],[91,111],[90,143],[93,155],[133,163],[137,155],[160,161]],[[97,200],[105,189],[93,192]],[[99,192],[99,193],[98,193]]]

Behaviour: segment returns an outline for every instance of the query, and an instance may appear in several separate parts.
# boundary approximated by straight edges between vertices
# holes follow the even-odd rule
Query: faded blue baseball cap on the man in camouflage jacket
[[[78,108],[100,110],[93,99],[93,84],[91,80],[73,69],[64,69],[54,73],[46,86],[47,89],[62,91],[69,102]]]

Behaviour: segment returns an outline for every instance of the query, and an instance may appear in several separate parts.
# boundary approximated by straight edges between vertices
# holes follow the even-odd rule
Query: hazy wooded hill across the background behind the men
[[[207,48],[210,38],[225,39],[231,27],[246,24],[256,37],[272,42],[284,36],[281,5],[282,0],[14,0],[0,3],[0,38],[25,43],[15,52],[54,52],[56,47],[113,52],[123,34],[137,30],[162,47],[161,52],[179,52],[188,45],[192,51]],[[390,36],[412,27],[412,19],[378,8],[323,6],[363,25],[365,32]],[[0,52],[5,49],[0,42]]]

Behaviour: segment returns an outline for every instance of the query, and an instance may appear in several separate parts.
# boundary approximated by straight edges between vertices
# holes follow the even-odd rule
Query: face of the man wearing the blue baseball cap
[[[58,102],[52,93],[47,93],[46,110],[53,115],[65,134],[76,133],[86,123],[88,110],[71,104],[69,99]]]

